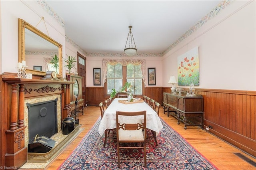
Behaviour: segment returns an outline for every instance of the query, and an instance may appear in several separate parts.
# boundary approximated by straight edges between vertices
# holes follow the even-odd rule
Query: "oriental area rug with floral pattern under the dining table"
[[[161,118],[160,118],[161,119]],[[163,129],[155,145],[151,131],[147,131],[147,167],[144,167],[142,149],[121,149],[120,168],[117,164],[116,140],[100,136],[100,118],[81,140],[59,170],[217,170],[162,119]],[[112,130],[110,133],[114,133]],[[113,134],[110,134],[113,135]]]

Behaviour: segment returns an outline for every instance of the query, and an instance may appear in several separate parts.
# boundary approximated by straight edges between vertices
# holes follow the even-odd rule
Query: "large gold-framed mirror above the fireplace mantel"
[[[56,71],[61,78],[62,45],[20,18],[18,27],[18,62],[26,61],[26,73],[45,76],[46,71]],[[58,60],[57,66],[51,62],[53,58]]]

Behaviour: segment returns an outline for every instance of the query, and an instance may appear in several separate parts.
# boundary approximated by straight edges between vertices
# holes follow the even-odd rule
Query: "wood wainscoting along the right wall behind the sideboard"
[[[170,93],[170,88],[163,87],[163,92]],[[256,156],[256,91],[196,88],[196,94],[204,97],[204,127]]]

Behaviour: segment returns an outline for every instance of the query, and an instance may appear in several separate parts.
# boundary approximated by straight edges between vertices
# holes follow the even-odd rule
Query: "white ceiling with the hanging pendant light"
[[[45,0],[65,35],[87,53],[123,52],[129,28],[138,53],[162,53],[220,0]]]

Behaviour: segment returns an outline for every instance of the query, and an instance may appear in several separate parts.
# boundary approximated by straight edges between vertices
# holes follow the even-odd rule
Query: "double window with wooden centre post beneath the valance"
[[[107,93],[110,94],[112,89],[120,91],[125,82],[131,82],[134,95],[142,95],[141,65],[107,64]]]

